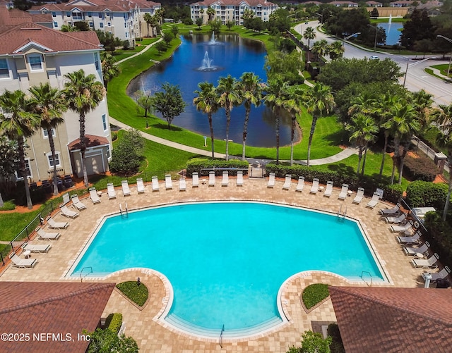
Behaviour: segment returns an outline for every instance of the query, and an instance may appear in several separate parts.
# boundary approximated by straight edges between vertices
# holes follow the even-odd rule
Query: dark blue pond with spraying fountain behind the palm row
[[[263,69],[266,49],[261,42],[243,39],[238,35],[215,35],[214,39],[210,35],[186,35],[181,39],[182,44],[173,56],[134,79],[127,94],[133,98],[133,94],[140,89],[155,92],[165,82],[179,85],[186,108],[184,113],[174,118],[173,124],[210,137],[206,114],[196,111],[193,105],[198,83],[208,81],[217,85],[220,77],[230,74],[239,79],[244,72],[253,72],[266,82]],[[244,115],[243,106],[232,109],[229,138],[233,142],[242,143]],[[281,117],[280,124],[280,145],[284,146],[290,144],[290,117]],[[213,116],[213,132],[215,139],[225,139],[224,109],[219,109]],[[295,140],[298,138],[296,132]],[[252,106],[246,144],[275,147],[275,141],[272,111],[263,104],[257,109]]]

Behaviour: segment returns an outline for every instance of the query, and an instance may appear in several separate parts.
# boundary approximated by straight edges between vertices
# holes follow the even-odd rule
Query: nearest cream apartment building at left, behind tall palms
[[[100,51],[95,32],[60,32],[32,22],[8,18],[10,11],[0,8],[0,94],[5,89],[29,93],[31,86],[49,82],[64,88],[64,75],[83,69],[102,82]],[[54,164],[59,175],[83,175],[78,114],[64,113],[64,123],[54,129],[56,159],[52,159],[47,130],[27,139],[26,167],[30,182],[52,178]],[[108,171],[112,140],[108,122],[107,98],[86,116],[85,152],[88,174]],[[19,177],[21,175],[18,175]]]

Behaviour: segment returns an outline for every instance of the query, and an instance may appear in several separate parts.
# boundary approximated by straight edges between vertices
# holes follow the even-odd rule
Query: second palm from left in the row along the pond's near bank
[[[218,79],[216,88],[218,104],[225,109],[226,113],[226,161],[229,161],[229,126],[231,123],[231,111],[234,106],[242,103],[242,97],[237,87],[237,80],[231,75]]]

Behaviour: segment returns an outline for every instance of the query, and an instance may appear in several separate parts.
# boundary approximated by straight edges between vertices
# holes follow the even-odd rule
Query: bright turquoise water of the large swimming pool
[[[277,294],[300,271],[383,276],[354,221],[251,202],[178,204],[107,218],[72,275],[152,268],[174,289],[169,319],[242,329],[279,319]],[[152,295],[152,293],[150,293]]]

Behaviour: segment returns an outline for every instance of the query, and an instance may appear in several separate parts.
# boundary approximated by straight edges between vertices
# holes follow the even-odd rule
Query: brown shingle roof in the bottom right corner
[[[451,352],[452,290],[330,287],[345,352]]]

